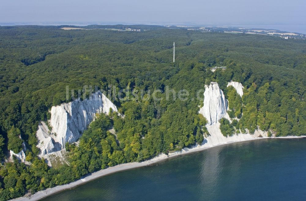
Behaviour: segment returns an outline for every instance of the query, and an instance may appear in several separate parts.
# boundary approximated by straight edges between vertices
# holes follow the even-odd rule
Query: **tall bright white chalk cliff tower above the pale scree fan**
[[[204,106],[200,108],[199,113],[207,119],[208,125],[216,124],[223,117],[229,119],[227,106],[227,100],[217,82],[205,86]]]

